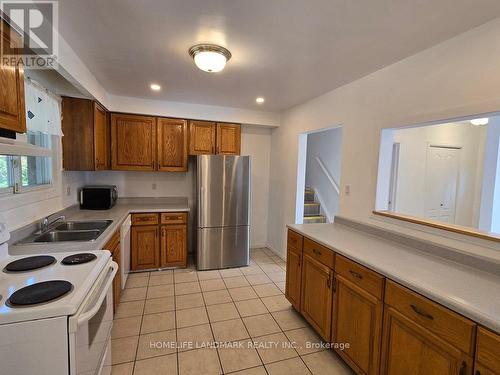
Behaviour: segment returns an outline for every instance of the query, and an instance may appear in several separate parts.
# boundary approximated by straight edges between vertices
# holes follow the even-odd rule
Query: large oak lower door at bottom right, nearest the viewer
[[[380,372],[387,375],[469,375],[472,359],[386,305]]]

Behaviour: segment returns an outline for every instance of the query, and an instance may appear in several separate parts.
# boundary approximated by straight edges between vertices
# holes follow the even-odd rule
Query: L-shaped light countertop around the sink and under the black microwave
[[[58,251],[99,250],[131,213],[138,212],[189,212],[188,199],[185,197],[166,198],[119,198],[109,210],[80,210],[78,206],[61,212],[66,220],[113,220],[113,223],[92,242],[36,243],[9,246],[9,254],[52,253]]]

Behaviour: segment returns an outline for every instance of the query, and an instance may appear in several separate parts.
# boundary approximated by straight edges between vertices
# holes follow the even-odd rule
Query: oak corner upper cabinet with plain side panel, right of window
[[[63,167],[67,171],[110,169],[109,115],[89,99],[63,97]]]

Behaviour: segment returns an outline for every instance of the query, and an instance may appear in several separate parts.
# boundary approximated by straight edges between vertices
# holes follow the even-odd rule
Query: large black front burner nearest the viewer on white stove
[[[70,292],[73,285],[64,280],[50,280],[16,290],[7,301],[12,307],[49,302]]]

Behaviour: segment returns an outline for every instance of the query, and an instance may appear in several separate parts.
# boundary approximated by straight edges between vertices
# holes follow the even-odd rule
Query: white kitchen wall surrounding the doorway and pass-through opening
[[[300,133],[343,125],[341,184],[351,193],[339,214],[373,223],[381,129],[500,110],[499,59],[496,19],[283,113],[272,136],[269,245],[285,254]]]

